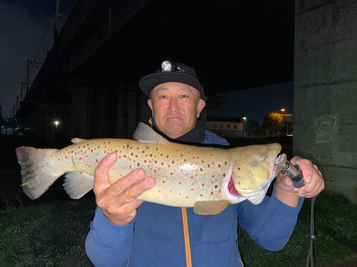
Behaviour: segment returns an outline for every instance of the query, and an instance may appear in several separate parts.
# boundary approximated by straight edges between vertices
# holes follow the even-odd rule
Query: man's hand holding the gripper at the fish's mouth
[[[276,176],[276,197],[289,206],[298,206],[298,197],[317,196],[325,188],[325,182],[318,167],[312,164],[311,160],[293,157],[290,162],[300,167],[305,185],[295,188],[287,175],[279,173]]]

